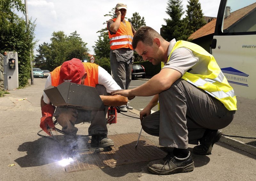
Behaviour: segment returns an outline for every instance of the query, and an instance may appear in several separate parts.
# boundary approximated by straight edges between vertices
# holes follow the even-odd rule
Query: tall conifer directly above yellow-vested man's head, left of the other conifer
[[[184,14],[181,0],[168,0],[166,13],[170,18],[164,19],[166,25],[162,25],[161,35],[166,41],[187,40],[186,22],[181,19]]]

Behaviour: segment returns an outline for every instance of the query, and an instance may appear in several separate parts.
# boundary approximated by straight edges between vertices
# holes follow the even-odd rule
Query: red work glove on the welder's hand
[[[48,131],[48,129],[52,128],[52,130],[54,130],[55,128],[54,123],[52,121],[52,116],[55,111],[55,108],[56,107],[51,104],[46,104],[41,108],[43,117],[41,118],[40,127],[44,130],[45,133],[49,135],[51,134]]]

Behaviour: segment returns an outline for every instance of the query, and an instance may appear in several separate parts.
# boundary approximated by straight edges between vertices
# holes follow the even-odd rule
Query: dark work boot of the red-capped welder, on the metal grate
[[[114,142],[107,137],[107,134],[92,135],[91,146],[94,148],[106,148],[114,146]]]

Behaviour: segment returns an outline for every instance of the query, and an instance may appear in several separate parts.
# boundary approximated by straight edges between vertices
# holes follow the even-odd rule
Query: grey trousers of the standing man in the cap
[[[132,55],[132,58],[134,58],[134,55]],[[128,89],[132,81],[132,61],[118,61],[116,54],[110,51],[110,67],[117,85],[121,89]]]

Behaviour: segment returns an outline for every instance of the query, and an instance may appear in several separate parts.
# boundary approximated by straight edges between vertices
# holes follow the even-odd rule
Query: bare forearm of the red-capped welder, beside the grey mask
[[[100,98],[104,105],[110,105],[110,106],[126,105],[128,102],[128,99],[126,97],[120,96],[120,95],[100,96]]]

